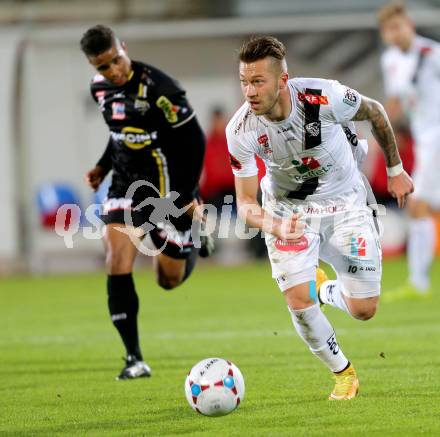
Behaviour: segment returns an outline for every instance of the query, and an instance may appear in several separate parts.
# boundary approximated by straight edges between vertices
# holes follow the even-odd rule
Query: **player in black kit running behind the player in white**
[[[106,224],[108,307],[127,351],[126,365],[118,379],[150,376],[151,369],[143,361],[139,346],[139,301],[132,277],[138,249],[130,233],[138,236],[139,230],[144,229],[143,234],[149,232],[157,248],[166,242],[165,249],[154,256],[153,265],[158,284],[167,290],[190,275],[198,255],[210,254],[212,240],[203,240],[199,250],[194,247],[190,232],[192,216],[198,214],[197,185],[204,136],[180,85],[159,69],[130,60],[125,44],[110,28],[97,25],[88,29],[80,44],[98,72],[91,93],[110,130],[107,148],[86,174],[86,180],[96,190],[107,173],[113,171],[102,219]],[[148,184],[127,195],[136,181]],[[159,193],[165,198],[170,191],[179,194],[177,199],[175,194],[172,197],[176,208],[187,208],[179,217],[170,219],[180,245],[160,224],[148,221],[155,202],[146,199],[158,198]],[[141,203],[142,208],[136,210]],[[131,216],[128,224],[124,220],[127,209]]]

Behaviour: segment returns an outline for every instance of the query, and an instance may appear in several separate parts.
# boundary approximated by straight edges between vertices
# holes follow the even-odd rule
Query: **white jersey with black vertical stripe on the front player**
[[[360,94],[337,81],[288,81],[292,111],[281,122],[255,115],[246,102],[226,128],[232,170],[237,177],[258,173],[255,155],[266,165],[264,191],[276,198],[326,200],[359,180],[348,122]]]

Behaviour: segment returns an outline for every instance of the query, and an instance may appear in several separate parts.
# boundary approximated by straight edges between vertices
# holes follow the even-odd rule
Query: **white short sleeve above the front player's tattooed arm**
[[[361,95],[352,88],[340,84],[338,81],[330,81],[327,91],[330,104],[329,116],[337,123],[347,122],[353,119],[361,104]]]

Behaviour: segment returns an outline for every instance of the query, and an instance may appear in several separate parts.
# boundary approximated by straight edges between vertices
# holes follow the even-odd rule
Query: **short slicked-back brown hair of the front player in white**
[[[253,36],[243,43],[238,53],[241,62],[249,64],[271,56],[278,61],[286,57],[284,44],[274,36]]]

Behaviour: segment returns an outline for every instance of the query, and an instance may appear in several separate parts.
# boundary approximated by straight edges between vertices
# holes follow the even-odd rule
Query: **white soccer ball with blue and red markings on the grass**
[[[185,381],[188,403],[205,416],[224,416],[244,398],[244,379],[239,368],[222,358],[197,363]]]

